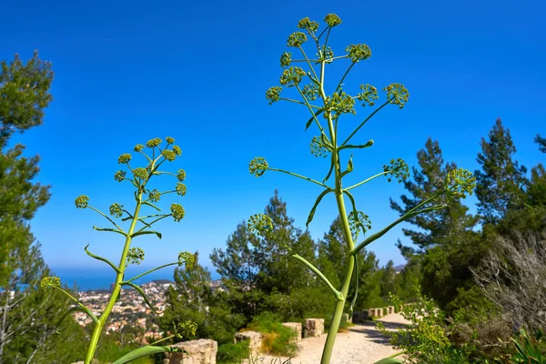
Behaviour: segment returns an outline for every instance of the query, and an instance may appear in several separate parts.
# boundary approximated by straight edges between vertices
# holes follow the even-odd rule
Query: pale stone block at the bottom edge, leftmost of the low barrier
[[[178,342],[171,347],[184,349],[186,352],[167,353],[164,364],[216,364],[218,343],[210,339],[198,339]]]

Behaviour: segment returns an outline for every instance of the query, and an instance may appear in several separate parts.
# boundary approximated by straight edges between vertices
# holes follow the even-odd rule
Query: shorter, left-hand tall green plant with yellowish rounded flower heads
[[[117,182],[128,181],[129,183],[131,183],[131,185],[133,185],[133,187],[135,187],[134,196],[136,204],[132,212],[124,208],[122,205],[114,203],[109,208],[109,212],[112,217],[108,217],[105,213],[103,213],[96,207],[92,207],[91,205],[89,205],[89,197],[82,195],[76,198],[77,208],[92,209],[96,211],[96,213],[98,213],[100,216],[105,217],[106,220],[112,225],[112,227],[93,227],[94,229],[96,229],[97,231],[116,233],[123,236],[123,238],[125,239],[125,244],[121,251],[121,257],[119,258],[119,263],[117,265],[110,262],[106,258],[99,257],[91,253],[87,249],[89,245],[87,245],[85,248],[86,254],[89,257],[106,263],[108,266],[110,266],[110,268],[114,269],[116,273],[116,282],[114,283],[114,289],[112,290],[111,296],[108,299],[106,307],[103,309],[102,313],[99,316],[96,316],[89,308],[86,307],[84,303],[70,295],[70,293],[68,293],[64,288],[61,287],[60,278],[47,277],[42,280],[42,288],[60,290],[65,293],[68,298],[74,300],[76,303],[74,307],[66,311],[66,314],[62,317],[61,321],[65,319],[67,315],[70,315],[71,313],[76,311],[81,311],[85,312],[95,322],[95,329],[93,329],[93,333],[89,342],[89,347],[86,353],[86,364],[91,363],[92,359],[95,357],[98,340],[100,339],[102,331],[106,325],[106,322],[108,321],[108,317],[112,311],[112,308],[116,304],[116,301],[119,299],[122,287],[128,286],[131,288],[135,288],[136,291],[144,298],[149,308],[157,313],[156,308],[154,308],[142,288],[138,287],[134,283],[134,281],[137,278],[141,278],[159,268],[165,268],[174,265],[182,266],[183,264],[186,266],[186,268],[191,268],[196,261],[194,255],[187,252],[182,252],[178,255],[178,260],[176,262],[149,269],[146,272],[139,274],[133,278],[127,279],[125,277],[126,268],[130,264],[140,264],[140,262],[144,259],[144,251],[141,248],[131,247],[133,239],[143,235],[156,235],[157,238],[161,238],[161,234],[159,232],[152,230],[153,225],[156,224],[157,221],[160,221],[166,217],[172,217],[175,221],[178,222],[185,215],[184,208],[179,204],[172,204],[170,207],[170,213],[161,212],[161,209],[156,205],[162,196],[171,193],[176,193],[179,196],[184,196],[186,195],[187,189],[186,185],[182,183],[186,178],[186,172],[183,169],[179,169],[177,173],[167,172],[159,169],[159,167],[161,167],[166,161],[172,162],[182,154],[182,150],[180,149],[180,147],[174,144],[175,139],[173,139],[172,137],[167,137],[167,145],[165,147],[161,147],[162,143],[163,141],[161,139],[154,138],[149,140],[146,143],[146,146],[143,146],[141,144],[136,145],[134,149],[135,152],[140,153],[142,156],[146,157],[146,167],[131,167],[131,154],[123,154],[117,160],[120,165],[123,165],[128,169],[129,174],[127,174],[125,170],[119,170],[116,172],[114,178]],[[149,154],[145,152],[145,148],[149,149]],[[174,187],[174,189],[172,190],[167,190],[164,192],[160,192],[157,189],[151,189],[150,187],[148,187],[148,183],[153,177],[161,175],[177,177],[176,187]],[[141,209],[145,207],[152,208],[154,210],[154,213],[150,215],[143,214]],[[120,225],[122,224],[116,222],[115,218],[121,219],[121,222],[128,222],[128,228],[124,229],[123,227],[121,227]],[[196,328],[191,322],[180,324],[175,327],[175,331],[177,332],[177,334],[172,335],[166,339],[171,339],[174,336],[181,336],[182,334],[179,333],[179,329],[183,329],[185,331],[189,330],[195,333]],[[165,339],[161,339],[160,341],[163,340]],[[177,351],[177,349],[173,349],[170,347],[155,346],[154,344],[156,343],[132,351],[131,353],[124,356],[122,359],[116,360],[116,364],[126,363],[127,361],[130,361],[132,359],[156,354],[159,352]]]

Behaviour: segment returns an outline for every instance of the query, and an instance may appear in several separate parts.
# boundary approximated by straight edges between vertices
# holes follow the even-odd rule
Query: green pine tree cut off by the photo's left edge
[[[21,144],[9,147],[15,133],[42,124],[53,72],[37,53],[26,63],[15,55],[0,68],[0,363],[66,362],[77,359],[74,350],[59,350],[50,335],[66,299],[39,290],[50,273],[29,225],[49,187],[34,181],[39,157],[24,157]],[[71,318],[60,329],[75,342],[83,335]]]

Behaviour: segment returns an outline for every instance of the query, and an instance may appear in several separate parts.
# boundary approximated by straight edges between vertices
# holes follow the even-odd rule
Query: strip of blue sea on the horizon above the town
[[[112,268],[107,266],[104,268],[87,268],[87,267],[78,267],[78,268],[66,268],[66,267],[50,267],[53,275],[61,278],[63,285],[68,286],[69,288],[77,288],[78,291],[86,291],[89,289],[109,289],[110,284],[114,283],[116,280],[116,272]],[[146,272],[147,267],[129,267],[126,270],[126,279],[133,278],[140,273]],[[211,270],[212,279],[217,279],[218,275],[213,270]],[[133,282],[137,285],[151,282],[152,280],[157,279],[167,279],[174,281],[174,272],[175,268],[167,267],[158,269],[142,278],[138,278]]]

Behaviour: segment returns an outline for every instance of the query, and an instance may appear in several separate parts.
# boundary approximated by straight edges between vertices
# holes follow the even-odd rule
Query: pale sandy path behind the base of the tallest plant
[[[386,329],[399,329],[408,321],[399,314],[390,314],[380,319]],[[258,359],[259,364],[317,364],[320,363],[322,348],[326,342],[326,335],[320,338],[303,339],[299,346],[298,355],[287,361],[288,358],[272,357]],[[400,350],[392,349],[387,338],[375,328],[373,322],[356,324],[349,328],[349,332],[340,332],[332,353],[331,364],[373,364],[380,359],[393,355]]]

